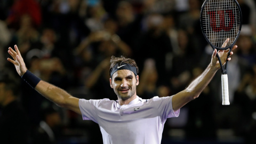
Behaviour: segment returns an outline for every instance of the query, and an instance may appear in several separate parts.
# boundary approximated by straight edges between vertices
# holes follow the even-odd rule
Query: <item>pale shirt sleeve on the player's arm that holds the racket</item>
[[[170,118],[170,117],[178,117],[180,114],[180,109],[174,111],[172,108],[172,96],[170,97],[154,97],[153,103],[155,107],[157,108],[158,112],[162,114],[164,119]]]

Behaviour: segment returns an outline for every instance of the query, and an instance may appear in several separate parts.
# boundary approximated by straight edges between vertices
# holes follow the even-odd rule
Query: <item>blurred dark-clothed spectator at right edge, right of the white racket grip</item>
[[[255,111],[256,111],[256,66],[244,73],[241,83],[235,92],[234,103],[238,107],[238,117],[234,123],[234,131],[244,137],[247,143],[255,142]],[[237,126],[239,125],[239,126]]]

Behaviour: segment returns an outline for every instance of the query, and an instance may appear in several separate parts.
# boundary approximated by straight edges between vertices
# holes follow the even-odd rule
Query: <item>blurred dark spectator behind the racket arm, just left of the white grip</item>
[[[191,81],[203,72],[200,67],[192,70]],[[201,93],[202,99],[188,103],[188,119],[185,126],[188,140],[216,140],[217,124],[215,122],[215,105],[213,90],[206,86]],[[203,108],[203,109],[202,109]]]

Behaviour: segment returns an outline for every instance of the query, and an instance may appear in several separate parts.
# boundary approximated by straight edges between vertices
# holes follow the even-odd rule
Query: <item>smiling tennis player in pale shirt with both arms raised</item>
[[[227,41],[223,44],[226,46]],[[137,96],[139,84],[138,67],[134,60],[124,57],[110,60],[110,86],[118,100],[85,100],[72,97],[66,91],[47,82],[27,70],[17,45],[15,51],[9,47],[9,54],[18,74],[36,91],[57,105],[82,115],[84,120],[99,124],[103,143],[161,143],[164,123],[167,118],[177,117],[179,109],[197,98],[220,68],[216,58],[217,50],[204,72],[185,90],[171,97],[141,99]],[[234,46],[233,49],[236,49]],[[228,50],[219,51],[222,63],[226,62]],[[233,52],[230,52],[232,55]],[[231,60],[228,58],[227,60]],[[99,90],[101,87],[99,87]]]

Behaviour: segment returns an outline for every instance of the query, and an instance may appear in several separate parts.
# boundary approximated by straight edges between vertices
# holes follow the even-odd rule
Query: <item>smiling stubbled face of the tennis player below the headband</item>
[[[132,71],[127,69],[118,70],[112,75],[109,81],[118,100],[128,100],[127,102],[129,103],[136,98],[136,86],[139,84],[139,76],[135,76]]]

